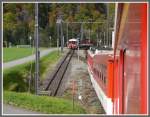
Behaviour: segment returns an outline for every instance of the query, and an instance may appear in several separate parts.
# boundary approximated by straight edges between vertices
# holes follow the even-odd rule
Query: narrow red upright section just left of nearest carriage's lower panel
[[[118,52],[118,59],[116,60],[115,63],[115,79],[114,79],[114,87],[115,88],[115,93],[114,93],[114,113],[115,114],[122,114],[123,113],[123,99],[124,99],[124,55],[125,55],[125,50],[120,50]]]

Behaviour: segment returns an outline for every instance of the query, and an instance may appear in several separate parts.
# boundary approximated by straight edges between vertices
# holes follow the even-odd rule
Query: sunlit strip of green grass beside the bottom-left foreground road
[[[84,109],[75,103],[74,110],[72,101],[48,97],[36,96],[29,93],[4,92],[4,103],[39,111],[48,114],[84,114]]]

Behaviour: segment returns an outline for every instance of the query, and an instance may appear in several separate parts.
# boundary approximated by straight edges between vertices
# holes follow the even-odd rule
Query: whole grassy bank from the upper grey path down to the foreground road
[[[45,72],[48,72],[47,66],[56,63],[60,57],[61,55],[58,56],[57,51],[54,51],[49,55],[43,57],[40,61],[40,74],[43,75]],[[73,110],[72,101],[69,100],[47,96],[35,96],[29,93],[16,93],[8,91],[28,90],[28,82],[26,79],[29,72],[29,68],[30,63],[27,63],[4,70],[4,103],[49,114],[85,113],[85,111],[77,104],[75,104]],[[34,70],[32,70],[32,73],[33,72]]]

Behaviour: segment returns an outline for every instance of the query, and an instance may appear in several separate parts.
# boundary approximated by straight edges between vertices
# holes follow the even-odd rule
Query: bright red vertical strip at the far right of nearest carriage
[[[147,76],[147,49],[148,49],[148,41],[147,41],[147,4],[143,5],[142,10],[142,34],[141,34],[141,113],[146,114],[148,113],[147,108],[147,84],[148,84],[148,76]]]

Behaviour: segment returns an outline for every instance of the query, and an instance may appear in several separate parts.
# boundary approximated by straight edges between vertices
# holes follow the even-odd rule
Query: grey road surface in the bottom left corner
[[[12,105],[3,105],[3,114],[40,114],[39,112],[34,112],[31,110],[22,109]],[[42,114],[42,113],[41,113]]]

